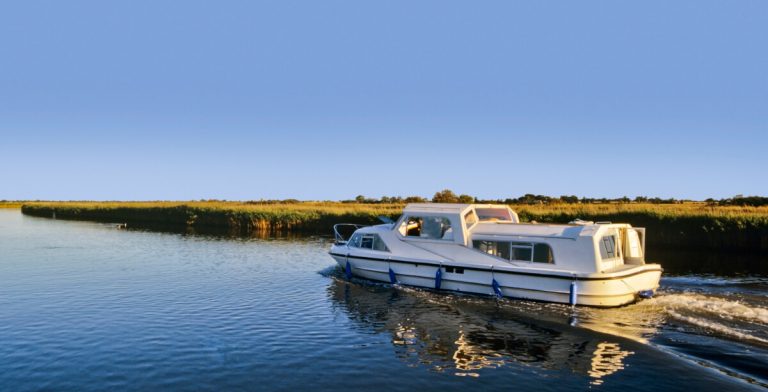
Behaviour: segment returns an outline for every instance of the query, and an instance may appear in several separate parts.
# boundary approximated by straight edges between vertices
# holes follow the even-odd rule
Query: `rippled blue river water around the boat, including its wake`
[[[658,252],[655,298],[571,309],[346,281],[329,246],[0,210],[0,390],[768,386],[764,258]]]

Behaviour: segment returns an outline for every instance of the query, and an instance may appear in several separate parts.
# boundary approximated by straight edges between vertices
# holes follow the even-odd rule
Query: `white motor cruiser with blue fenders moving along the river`
[[[520,223],[503,205],[409,204],[397,222],[334,231],[347,277],[438,290],[611,307],[651,297],[662,272],[645,263],[644,228]]]

